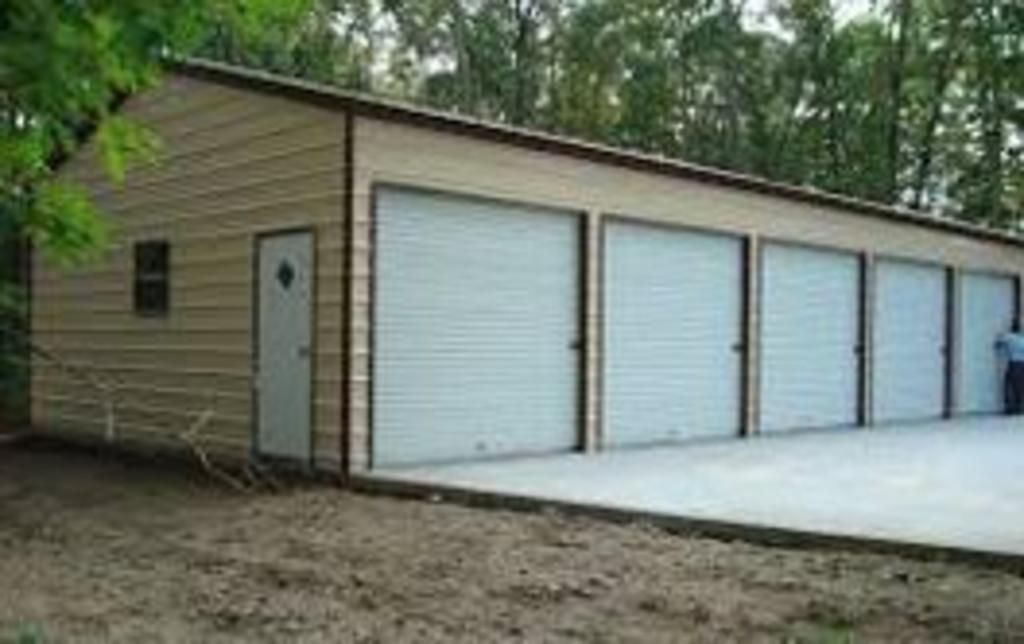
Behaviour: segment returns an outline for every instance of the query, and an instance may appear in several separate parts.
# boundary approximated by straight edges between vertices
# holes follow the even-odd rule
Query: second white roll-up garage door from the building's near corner
[[[608,224],[607,444],[737,434],[741,252],[734,238]]]

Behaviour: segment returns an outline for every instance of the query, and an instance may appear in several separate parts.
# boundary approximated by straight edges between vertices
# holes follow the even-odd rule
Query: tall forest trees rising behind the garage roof
[[[232,62],[1002,228],[1024,215],[1024,3],[317,0]]]

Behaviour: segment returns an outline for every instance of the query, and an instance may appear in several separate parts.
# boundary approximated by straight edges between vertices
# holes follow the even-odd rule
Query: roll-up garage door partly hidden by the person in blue
[[[956,410],[993,414],[1002,409],[1004,364],[995,349],[1013,326],[1016,283],[1012,277],[965,272],[961,278]]]

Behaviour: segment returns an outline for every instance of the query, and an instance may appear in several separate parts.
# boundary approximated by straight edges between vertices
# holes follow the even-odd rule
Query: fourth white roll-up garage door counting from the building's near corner
[[[880,260],[874,275],[874,421],[940,418],[946,390],[945,269]]]

